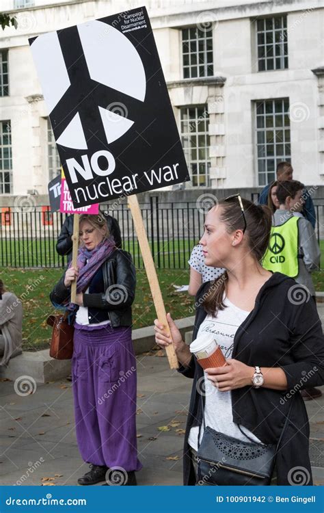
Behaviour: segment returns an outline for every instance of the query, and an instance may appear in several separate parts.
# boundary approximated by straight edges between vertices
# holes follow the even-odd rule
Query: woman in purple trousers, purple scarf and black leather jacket
[[[82,485],[135,485],[141,469],[136,443],[136,360],[131,339],[135,267],[116,248],[104,215],[80,216],[77,268],[69,267],[51,301],[72,312],[72,381],[81,456],[90,471]],[[71,283],[77,280],[77,304]]]

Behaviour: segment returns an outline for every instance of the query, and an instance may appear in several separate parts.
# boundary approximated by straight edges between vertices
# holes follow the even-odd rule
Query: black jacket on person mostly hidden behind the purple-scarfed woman
[[[106,215],[107,226],[109,229],[109,234],[113,237],[115,241],[116,248],[122,248],[122,237],[120,235],[120,227],[118,221],[113,218],[111,215]],[[59,233],[59,237],[56,243],[57,253],[62,255],[62,257],[68,257],[68,262],[72,259],[72,235],[73,235],[73,215],[68,215],[66,220],[63,223],[61,228],[61,232]]]

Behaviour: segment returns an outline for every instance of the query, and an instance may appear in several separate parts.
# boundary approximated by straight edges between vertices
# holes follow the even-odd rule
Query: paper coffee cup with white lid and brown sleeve
[[[208,367],[223,367],[226,365],[226,359],[221,352],[221,348],[209,333],[204,333],[200,335],[200,337],[197,337],[197,339],[190,344],[190,352],[195,354],[198,363],[203,369],[208,369]]]

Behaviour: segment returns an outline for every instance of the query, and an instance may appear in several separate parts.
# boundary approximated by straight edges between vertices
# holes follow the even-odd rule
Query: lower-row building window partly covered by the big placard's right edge
[[[209,116],[207,105],[180,109],[181,139],[194,187],[209,185]]]

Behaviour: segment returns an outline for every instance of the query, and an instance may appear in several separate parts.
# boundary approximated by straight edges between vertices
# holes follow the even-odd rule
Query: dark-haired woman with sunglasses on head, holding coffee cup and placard
[[[222,200],[206,215],[200,240],[205,263],[225,267],[226,279],[221,276],[198,291],[193,339],[202,333],[215,339],[225,367],[204,371],[167,317],[180,372],[193,378],[185,485],[198,481],[200,427],[200,441],[204,434],[201,395],[206,425],[237,440],[271,445],[278,443],[293,401],[276,458],[277,483],[312,484],[308,417],[299,389],[324,382],[323,333],[314,303],[295,280],[260,265],[270,228],[269,211],[239,195]],[[159,345],[171,343],[157,320],[155,331]],[[294,473],[297,467],[303,467],[303,482]]]

